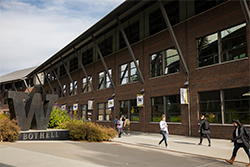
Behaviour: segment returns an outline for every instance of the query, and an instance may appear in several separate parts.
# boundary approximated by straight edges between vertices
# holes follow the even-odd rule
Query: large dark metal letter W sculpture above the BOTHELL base
[[[21,131],[46,130],[57,95],[40,93],[7,92],[11,118],[17,118]]]

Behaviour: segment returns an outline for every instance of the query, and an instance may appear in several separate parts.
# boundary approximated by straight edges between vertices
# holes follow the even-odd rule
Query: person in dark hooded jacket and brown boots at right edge
[[[249,130],[244,125],[242,125],[238,119],[234,119],[232,122],[235,128],[233,132],[233,140],[231,140],[231,142],[234,142],[234,149],[231,159],[226,160],[226,162],[233,164],[238,150],[242,147],[249,159],[249,163],[246,166],[250,166]]]

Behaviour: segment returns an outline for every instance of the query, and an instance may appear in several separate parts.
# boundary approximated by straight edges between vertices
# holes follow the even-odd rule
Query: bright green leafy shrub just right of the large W
[[[52,108],[50,119],[48,123],[48,128],[58,128],[62,123],[70,121],[70,116],[67,115],[67,111],[62,111],[58,106]]]

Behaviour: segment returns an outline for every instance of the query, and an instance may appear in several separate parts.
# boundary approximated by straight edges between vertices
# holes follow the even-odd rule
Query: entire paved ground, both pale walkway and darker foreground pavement
[[[212,139],[212,147],[204,139],[170,135],[166,149],[160,134],[132,132],[112,142],[17,141],[0,143],[1,167],[104,167],[104,166],[171,166],[227,167],[231,157],[229,140]],[[248,159],[240,149],[233,166],[245,166]]]

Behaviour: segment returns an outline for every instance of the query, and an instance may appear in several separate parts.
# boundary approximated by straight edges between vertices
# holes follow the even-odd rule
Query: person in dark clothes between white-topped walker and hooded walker
[[[198,143],[198,145],[202,145],[203,136],[206,135],[208,143],[209,143],[208,146],[211,147],[211,140],[209,137],[209,134],[211,133],[210,125],[204,115],[201,116],[201,122],[200,122],[198,132],[200,133],[200,143]]]

